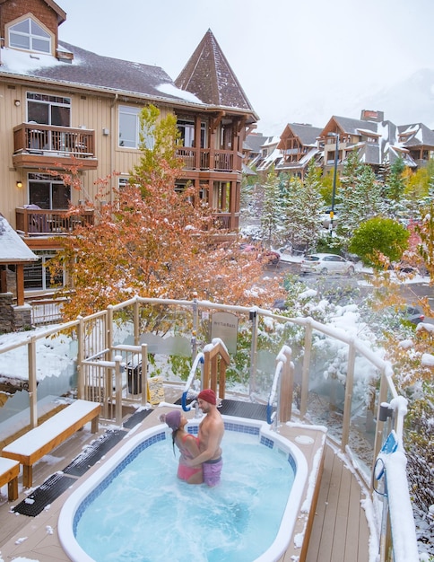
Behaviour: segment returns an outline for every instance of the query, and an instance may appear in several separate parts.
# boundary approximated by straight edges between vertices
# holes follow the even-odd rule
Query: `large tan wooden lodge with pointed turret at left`
[[[93,200],[96,180],[113,171],[122,185],[138,163],[143,106],[177,116],[184,169],[174,187],[193,182],[226,230],[239,226],[242,146],[258,119],[211,30],[173,81],[159,66],[61,41],[65,18],[52,0],[0,0],[0,213],[39,256],[16,285],[42,292],[54,236],[73,226],[69,203]],[[81,192],[53,174],[72,164]],[[15,292],[4,285],[0,293]]]

